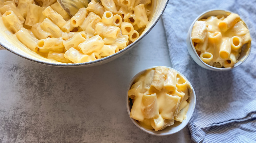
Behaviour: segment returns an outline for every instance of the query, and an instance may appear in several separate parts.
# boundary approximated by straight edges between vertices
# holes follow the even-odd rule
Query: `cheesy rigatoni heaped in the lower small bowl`
[[[160,66],[137,77],[128,91],[130,117],[155,131],[186,119],[191,86],[177,71]]]

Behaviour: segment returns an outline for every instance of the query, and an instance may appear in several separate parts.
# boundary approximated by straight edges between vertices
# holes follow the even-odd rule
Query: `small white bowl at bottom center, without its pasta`
[[[155,67],[149,67],[143,71],[140,71],[139,73],[137,73],[133,79],[131,80],[130,84],[129,84],[129,87],[127,89],[127,94],[126,94],[126,107],[127,107],[127,112],[128,112],[128,115],[130,117],[130,112],[131,112],[131,109],[132,109],[132,103],[130,103],[130,100],[129,100],[129,97],[128,97],[128,91],[130,90],[131,86],[134,84],[134,80],[139,77],[139,75],[143,74],[144,72],[146,72],[146,70],[148,69],[151,69],[151,68],[155,68]],[[172,69],[172,70],[175,70],[173,68],[170,68],[170,67],[167,67],[169,69]],[[176,71],[176,70],[175,70]],[[185,79],[186,77],[181,74],[179,71],[177,71],[180,75],[182,75]],[[187,79],[186,79],[187,80]],[[187,80],[188,81],[188,80]],[[188,81],[188,83],[190,84],[190,82]],[[191,85],[191,84],[190,84]],[[139,122],[133,118],[130,118],[132,120],[132,122],[137,126],[139,127],[142,131],[148,133],[148,134],[151,134],[151,135],[159,135],[159,136],[163,136],[163,135],[172,135],[174,133],[177,133],[179,132],[181,129],[183,129],[189,122],[190,118],[192,117],[192,114],[194,112],[194,109],[195,109],[195,105],[196,105],[196,93],[194,91],[194,88],[191,86],[192,90],[189,92],[189,100],[190,100],[190,103],[189,103],[189,108],[188,108],[188,111],[187,111],[187,119],[184,119],[181,123],[177,124],[175,122],[174,125],[172,126],[169,126],[163,130],[160,130],[160,131],[155,131],[155,130],[150,130],[150,129],[147,129],[145,127],[143,127],[142,125],[139,124]]]

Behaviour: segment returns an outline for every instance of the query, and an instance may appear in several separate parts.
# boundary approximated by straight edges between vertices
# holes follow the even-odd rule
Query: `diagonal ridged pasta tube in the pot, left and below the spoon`
[[[66,24],[66,21],[63,19],[63,17],[54,11],[50,6],[43,10],[43,15],[51,19],[52,22],[59,27],[62,27]]]

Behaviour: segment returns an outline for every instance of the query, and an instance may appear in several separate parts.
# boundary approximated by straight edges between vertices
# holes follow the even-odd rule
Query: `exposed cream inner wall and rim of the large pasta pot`
[[[23,58],[26,58],[28,60],[50,65],[50,66],[58,66],[58,67],[89,67],[89,66],[96,66],[101,65],[107,62],[110,62],[117,57],[122,56],[124,53],[126,53],[129,49],[134,47],[158,22],[160,19],[160,16],[162,15],[164,9],[166,8],[169,0],[156,0],[153,1],[152,4],[154,5],[154,14],[149,18],[151,19],[148,26],[145,28],[145,30],[140,35],[139,39],[124,48],[123,50],[111,55],[107,56],[95,61],[86,62],[86,63],[78,63],[78,64],[65,64],[60,62],[54,62],[49,59],[46,59],[42,56],[38,56],[36,53],[30,51],[28,48],[24,47],[21,42],[15,42],[16,37],[10,37],[10,32],[8,32],[7,28],[4,26],[2,19],[0,19],[0,50],[6,49],[18,56],[21,56]],[[17,39],[17,38],[16,38]]]

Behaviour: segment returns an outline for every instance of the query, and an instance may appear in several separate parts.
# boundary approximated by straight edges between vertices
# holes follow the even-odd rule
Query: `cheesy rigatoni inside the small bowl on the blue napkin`
[[[233,67],[242,46],[251,41],[249,30],[235,13],[196,21],[191,36],[202,61],[217,68]]]

